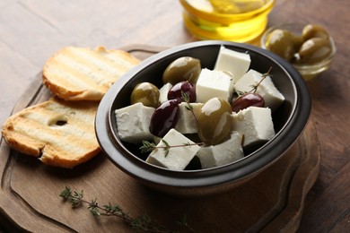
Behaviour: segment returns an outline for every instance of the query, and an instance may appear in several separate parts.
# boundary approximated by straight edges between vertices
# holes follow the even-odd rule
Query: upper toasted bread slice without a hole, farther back
[[[101,100],[109,87],[140,61],[122,50],[65,47],[48,59],[43,83],[66,100]]]

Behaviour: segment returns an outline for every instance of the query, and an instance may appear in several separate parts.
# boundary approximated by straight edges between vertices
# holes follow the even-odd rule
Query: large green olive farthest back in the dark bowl
[[[201,69],[200,60],[197,58],[181,56],[165,69],[162,82],[175,85],[178,82],[188,81],[195,84]]]

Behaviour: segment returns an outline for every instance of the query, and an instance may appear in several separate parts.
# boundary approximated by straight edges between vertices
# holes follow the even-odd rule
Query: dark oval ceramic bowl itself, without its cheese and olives
[[[202,67],[213,69],[221,45],[248,52],[250,68],[260,73],[272,67],[273,82],[285,98],[284,104],[273,114],[276,136],[242,160],[218,168],[174,171],[146,163],[139,157],[139,145],[127,144],[118,138],[115,109],[130,105],[130,94],[139,82],[152,82],[162,87],[163,71],[180,56],[196,57],[201,60]],[[172,47],[126,73],[101,100],[95,127],[102,151],[131,177],[172,194],[214,194],[241,184],[281,158],[302,134],[310,112],[310,93],[292,65],[259,47],[209,40]]]

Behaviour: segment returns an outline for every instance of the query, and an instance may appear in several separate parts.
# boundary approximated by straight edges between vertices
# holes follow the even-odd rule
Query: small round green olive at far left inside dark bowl
[[[130,102],[135,104],[141,102],[144,106],[159,107],[159,89],[150,82],[141,82],[131,92]]]

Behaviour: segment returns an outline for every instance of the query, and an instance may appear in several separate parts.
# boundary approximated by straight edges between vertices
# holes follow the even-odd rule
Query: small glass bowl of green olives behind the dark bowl
[[[291,63],[305,80],[328,70],[337,51],[328,31],[316,24],[271,27],[261,37],[260,44]]]

